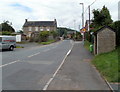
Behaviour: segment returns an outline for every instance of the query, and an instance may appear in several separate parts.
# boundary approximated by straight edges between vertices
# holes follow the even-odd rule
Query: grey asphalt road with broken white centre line
[[[3,90],[42,90],[57,70],[72,41],[2,52]]]

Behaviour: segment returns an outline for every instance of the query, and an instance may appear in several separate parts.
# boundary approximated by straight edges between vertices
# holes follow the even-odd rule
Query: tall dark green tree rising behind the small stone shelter
[[[103,6],[101,10],[93,10],[93,24],[95,27],[109,25],[113,21],[111,19],[111,15],[107,7]]]

